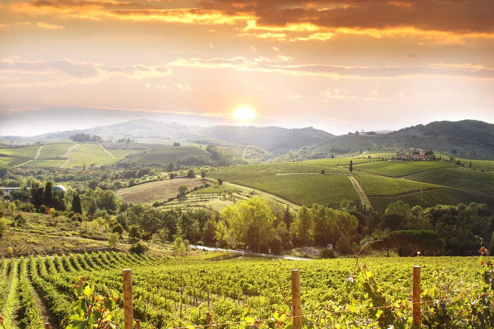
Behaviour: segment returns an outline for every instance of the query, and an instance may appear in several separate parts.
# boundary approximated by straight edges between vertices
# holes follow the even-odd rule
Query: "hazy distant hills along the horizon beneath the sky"
[[[67,139],[76,133],[99,135],[104,140],[172,139],[200,144],[257,146],[279,160],[293,161],[324,158],[331,154],[360,150],[420,147],[477,158],[494,158],[494,124],[475,121],[436,121],[378,135],[335,136],[323,130],[307,128],[217,125],[202,127],[173,122],[136,119],[108,126],[43,134],[30,138],[3,137],[16,143]],[[287,153],[289,152],[289,153]]]

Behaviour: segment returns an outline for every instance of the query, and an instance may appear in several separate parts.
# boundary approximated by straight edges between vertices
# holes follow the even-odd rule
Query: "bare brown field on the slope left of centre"
[[[176,178],[173,180],[145,183],[117,191],[117,196],[133,203],[153,203],[164,201],[178,194],[178,186],[185,184],[189,189],[203,184],[198,178]]]

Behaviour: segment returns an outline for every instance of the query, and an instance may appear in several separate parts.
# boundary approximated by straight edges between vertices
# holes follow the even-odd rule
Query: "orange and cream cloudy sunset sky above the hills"
[[[0,135],[176,114],[333,134],[493,123],[493,17],[490,0],[2,0]]]

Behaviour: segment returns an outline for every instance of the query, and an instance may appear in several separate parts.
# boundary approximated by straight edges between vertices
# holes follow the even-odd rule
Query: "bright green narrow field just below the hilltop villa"
[[[421,171],[435,168],[456,167],[445,161],[381,161],[355,165],[356,170],[363,170],[373,174],[403,177]]]

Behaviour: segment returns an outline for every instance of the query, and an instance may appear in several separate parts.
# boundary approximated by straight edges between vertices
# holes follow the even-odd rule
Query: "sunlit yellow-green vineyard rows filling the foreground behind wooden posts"
[[[486,300],[474,302],[476,295],[484,292],[477,257],[363,258],[360,263],[365,263],[366,269],[356,268],[351,258],[273,262],[231,257],[222,253],[175,258],[105,252],[2,259],[0,307],[4,324],[16,328],[24,322],[28,328],[42,328],[43,322],[49,322],[51,328],[65,328],[74,312],[73,286],[79,276],[97,284],[99,292],[103,287],[115,290],[119,295],[117,304],[122,305],[123,268],[132,269],[133,314],[142,328],[204,326],[207,310],[212,324],[246,321],[248,326],[254,319],[270,321],[272,308],[289,313],[284,296],[290,298],[290,270],[294,268],[300,270],[302,315],[314,314],[304,321],[324,328],[335,323],[345,328],[362,327],[376,318],[376,311],[366,307],[381,305],[386,305],[390,314],[400,312],[404,320],[394,318],[395,321],[411,322],[412,265],[421,266],[422,300],[457,298],[437,306],[425,304],[425,323],[440,310],[446,319],[460,311],[468,313],[470,305],[479,305],[479,311],[486,305]],[[372,279],[372,291],[386,295],[384,304],[380,299],[372,301],[359,288],[357,282],[364,284],[360,273]],[[36,302],[38,297],[42,303]],[[492,297],[487,298],[489,301]],[[19,312],[22,308],[30,312]],[[464,321],[477,320],[471,317]],[[112,320],[122,328],[123,312],[115,312]],[[379,327],[382,328],[375,321],[367,328]]]

